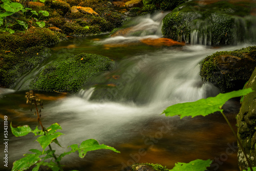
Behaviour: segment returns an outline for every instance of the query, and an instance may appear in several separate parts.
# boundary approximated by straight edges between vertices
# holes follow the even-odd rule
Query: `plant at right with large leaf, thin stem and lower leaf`
[[[195,117],[195,116],[199,116],[199,115],[206,116],[206,115],[209,115],[209,114],[217,112],[217,111],[221,112],[221,114],[225,118],[226,122],[228,123],[230,129],[232,130],[234,136],[236,137],[236,139],[244,153],[244,156],[248,162],[248,166],[249,166],[250,170],[255,171],[256,167],[252,168],[240,139],[238,138],[236,132],[234,132],[227,117],[223,114],[223,109],[222,109],[223,104],[225,104],[225,102],[227,100],[229,100],[230,98],[244,96],[250,92],[253,92],[251,88],[243,89],[243,90],[239,90],[239,91],[232,91],[232,92],[225,93],[225,94],[221,93],[221,94],[217,95],[216,97],[208,97],[206,99],[200,99],[200,100],[194,101],[194,102],[178,103],[178,104],[169,106],[168,108],[166,108],[166,110],[163,111],[163,113],[165,114],[165,116],[178,115],[182,119],[185,116],[191,116],[191,117]],[[201,166],[207,165],[207,163],[208,164],[211,163],[211,161],[209,161],[209,160],[207,160],[207,161],[208,162],[206,162],[206,161],[204,162],[204,160],[199,160],[198,163],[200,163]],[[174,171],[174,170],[198,170],[198,169],[193,168],[195,165],[195,164],[193,164],[194,162],[195,162],[195,160],[191,161],[190,163],[187,163],[186,164],[187,168],[184,167],[185,164],[180,165],[178,163],[178,165],[180,165],[182,167],[182,169],[172,169],[172,171]],[[246,171],[246,170],[244,170],[244,171]]]

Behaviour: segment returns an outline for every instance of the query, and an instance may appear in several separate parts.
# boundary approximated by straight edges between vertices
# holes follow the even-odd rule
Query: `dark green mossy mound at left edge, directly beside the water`
[[[0,51],[0,87],[9,88],[23,74],[30,71],[49,56],[44,46],[27,48],[26,51]]]

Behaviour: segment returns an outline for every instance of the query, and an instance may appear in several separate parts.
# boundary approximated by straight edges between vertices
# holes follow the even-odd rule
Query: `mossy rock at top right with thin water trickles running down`
[[[175,8],[163,19],[164,37],[191,44],[232,45],[255,41],[256,18],[250,16],[255,4],[217,2],[200,5],[188,2]]]

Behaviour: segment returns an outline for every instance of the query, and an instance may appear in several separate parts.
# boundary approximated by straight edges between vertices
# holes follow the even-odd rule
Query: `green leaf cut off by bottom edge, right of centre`
[[[175,163],[175,166],[173,169],[170,169],[170,171],[204,171],[206,170],[206,167],[209,167],[211,164],[211,160],[193,160],[189,163]]]

